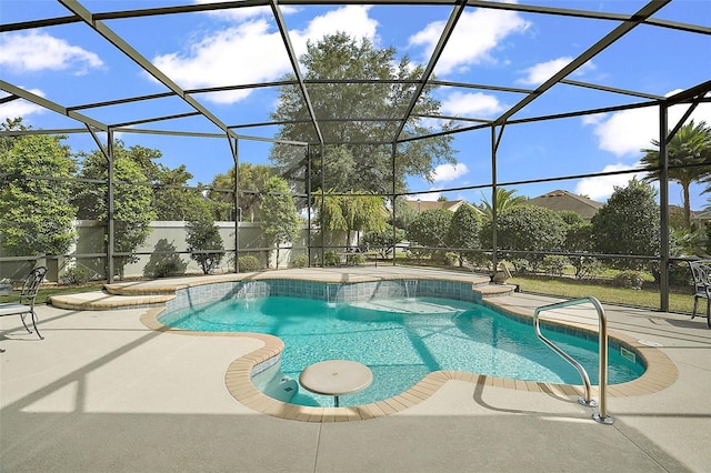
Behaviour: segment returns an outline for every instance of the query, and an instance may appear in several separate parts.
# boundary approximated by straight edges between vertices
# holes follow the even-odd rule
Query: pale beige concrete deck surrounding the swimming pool
[[[341,281],[422,274],[299,271]],[[557,302],[525,293],[490,301],[529,313]],[[0,471],[710,471],[711,330],[701,318],[605,305],[612,334],[657,345],[677,369],[668,386],[610,396],[612,425],[592,421],[577,395],[460,379],[391,415],[299,422],[237,401],[226,384],[260,339],[151,330],[141,322],[151,310],[42,305],[46,340],[0,318]]]

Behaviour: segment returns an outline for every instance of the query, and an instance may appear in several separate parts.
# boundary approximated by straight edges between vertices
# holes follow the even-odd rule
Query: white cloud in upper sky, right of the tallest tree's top
[[[410,37],[410,46],[423,46],[424,57],[429,58],[445,24],[445,21],[429,23]],[[447,74],[471,64],[493,61],[491,51],[510,34],[525,31],[529,24],[513,11],[477,9],[463,12],[442,51],[435,72]]]

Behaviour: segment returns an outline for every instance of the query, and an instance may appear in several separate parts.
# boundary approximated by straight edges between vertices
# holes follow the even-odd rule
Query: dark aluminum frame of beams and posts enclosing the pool
[[[611,111],[620,111],[620,110],[629,110],[634,108],[649,108],[657,107],[659,109],[660,114],[660,157],[661,160],[661,180],[660,180],[660,204],[661,204],[661,229],[662,229],[662,244],[661,244],[661,301],[660,306],[662,310],[669,309],[669,279],[667,268],[669,265],[670,255],[669,255],[669,225],[668,225],[668,213],[669,213],[669,195],[668,195],[668,159],[667,159],[667,143],[673,137],[674,132],[682,124],[683,120],[679,123],[672,124],[672,133],[668,135],[668,109],[675,104],[687,104],[688,112],[684,115],[684,119],[691,113],[691,111],[699,103],[709,103],[711,99],[709,98],[709,93],[711,92],[711,80],[701,82],[694,87],[682,90],[679,93],[675,93],[672,97],[660,97],[657,94],[648,93],[644,91],[635,91],[635,90],[622,90],[618,88],[605,87],[598,83],[587,83],[581,81],[575,81],[569,79],[571,74],[580,69],[583,64],[589,62],[592,58],[607,50],[611,46],[613,46],[618,40],[623,38],[625,34],[630,33],[634,29],[640,26],[660,28],[660,29],[673,29],[687,32],[689,34],[701,34],[701,36],[711,36],[711,28],[703,24],[689,24],[689,23],[680,23],[674,21],[661,20],[653,18],[653,16],[662,10],[667,4],[671,3],[674,0],[653,0],[643,4],[638,11],[631,14],[622,14],[622,13],[612,13],[604,11],[585,11],[585,10],[575,10],[575,9],[563,9],[563,8],[553,8],[553,7],[542,7],[534,4],[521,4],[521,3],[502,3],[495,1],[477,1],[477,0],[241,0],[241,1],[223,1],[223,2],[214,2],[214,3],[188,3],[172,7],[163,7],[163,8],[146,8],[146,9],[134,9],[134,10],[118,10],[118,11],[104,11],[104,12],[92,12],[88,8],[86,8],[81,2],[77,0],[58,0],[68,11],[67,16],[62,17],[53,17],[46,18],[41,20],[33,20],[27,22],[19,23],[2,23],[0,24],[0,33],[3,32],[12,32],[12,31],[31,31],[39,28],[54,27],[61,24],[70,24],[70,23],[83,23],[88,29],[92,30],[97,37],[101,38],[102,41],[106,41],[113,46],[113,48],[133,61],[138,67],[154,78],[158,82],[160,82],[167,89],[166,92],[147,94],[147,95],[136,95],[136,97],[127,97],[123,99],[116,99],[111,101],[103,102],[91,102],[91,103],[81,103],[81,104],[62,104],[57,103],[54,101],[44,99],[38,94],[34,94],[30,91],[22,89],[19,84],[10,83],[3,79],[0,79],[0,90],[8,93],[8,97],[0,98],[0,103],[7,103],[13,100],[23,99],[29,102],[32,102],[37,105],[43,107],[48,110],[51,110],[56,113],[63,114],[78,123],[81,124],[80,128],[77,129],[62,129],[62,130],[28,130],[27,133],[90,133],[99,148],[103,150],[104,155],[107,158],[109,171],[111,171],[112,163],[112,135],[117,132],[121,133],[149,133],[149,134],[164,134],[164,135],[196,135],[196,137],[204,137],[204,138],[217,138],[224,139],[228,141],[234,164],[234,171],[237,175],[237,169],[239,167],[239,143],[241,140],[261,140],[261,141],[272,141],[280,142],[277,139],[268,139],[263,137],[252,137],[248,134],[238,133],[238,130],[243,130],[248,128],[260,127],[264,124],[280,124],[276,122],[260,122],[260,123],[233,123],[229,124],[223,119],[220,118],[219,112],[207,107],[202,101],[197,99],[197,95],[211,93],[211,92],[220,92],[220,91],[234,91],[241,89],[260,89],[260,88],[273,88],[273,87],[284,87],[284,85],[293,85],[298,88],[302,95],[302,100],[306,109],[308,110],[309,117],[308,122],[312,125],[314,134],[318,137],[317,142],[312,143],[303,143],[303,142],[292,142],[297,147],[303,147],[308,157],[307,165],[311,168],[312,165],[319,165],[316,163],[311,163],[311,153],[310,149],[320,150],[321,155],[323,155],[323,147],[328,144],[341,144],[339,142],[334,142],[329,140],[329,137],[324,137],[322,133],[322,124],[332,121],[330,118],[319,117],[312,102],[310,91],[320,83],[364,83],[364,84],[382,84],[387,83],[387,81],[378,81],[378,80],[363,80],[363,79],[352,79],[352,80],[333,80],[333,81],[316,81],[309,80],[304,78],[299,68],[299,59],[296,56],[292,42],[291,42],[291,32],[287,22],[284,20],[282,13],[282,7],[304,7],[304,6],[347,6],[347,4],[370,4],[370,6],[394,6],[394,7],[412,7],[412,6],[437,6],[437,7],[445,7],[450,8],[449,19],[447,24],[443,28],[443,31],[439,38],[437,47],[433,49],[429,61],[424,67],[424,73],[421,78],[415,81],[409,81],[411,85],[414,88],[414,92],[412,93],[408,105],[404,108],[404,111],[401,115],[395,118],[385,118],[385,117],[352,117],[350,120],[352,121],[391,121],[397,124],[395,133],[390,137],[389,140],[385,140],[380,143],[369,143],[369,144],[383,144],[392,147],[392,172],[393,172],[393,184],[392,191],[389,195],[393,201],[398,197],[414,194],[417,191],[407,192],[407,193],[397,193],[394,187],[394,160],[397,157],[397,148],[398,144],[413,141],[413,140],[422,140],[431,137],[435,137],[439,134],[454,134],[454,133],[465,133],[477,130],[490,130],[491,135],[491,183],[490,188],[492,191],[492,205],[494,208],[493,213],[493,222],[494,222],[494,239],[493,239],[493,258],[494,258],[494,266],[497,265],[497,236],[495,236],[495,228],[497,228],[497,214],[495,214],[495,191],[498,187],[511,185],[517,183],[530,183],[534,181],[517,181],[517,182],[499,182],[498,173],[497,173],[497,151],[501,140],[504,135],[504,130],[507,127],[512,124],[524,124],[537,121],[547,121],[547,120],[557,120],[563,118],[572,118],[580,115],[589,115],[594,113],[603,113]],[[187,0],[186,0],[187,2]],[[182,13],[192,13],[192,12],[207,12],[207,11],[218,11],[218,10],[227,10],[227,9],[241,9],[241,8],[253,8],[253,7],[267,7],[272,12],[272,19],[276,22],[279,34],[281,37],[284,51],[291,64],[291,72],[296,80],[283,80],[283,81],[271,81],[271,82],[261,82],[261,83],[241,83],[241,84],[232,84],[219,88],[202,88],[202,89],[182,89],[178,83],[166,73],[163,73],[159,68],[152,64],[144,56],[142,56],[138,50],[136,50],[126,39],[123,39],[119,33],[113,31],[107,22],[109,20],[119,20],[119,19],[130,19],[130,18],[142,18],[142,17],[161,17],[161,16],[172,16],[172,14],[182,14]],[[512,88],[505,84],[478,84],[478,83],[457,83],[449,81],[440,81],[433,78],[434,68],[440,60],[442,51],[447,46],[448,41],[454,29],[458,26],[458,21],[461,18],[462,12],[468,9],[492,9],[492,10],[508,10],[508,11],[517,11],[517,12],[525,12],[532,14],[544,14],[544,16],[559,16],[559,17],[574,17],[574,18],[584,18],[601,22],[609,22],[613,27],[610,31],[602,36],[593,46],[584,50],[578,57],[575,57],[572,61],[570,61],[563,69],[561,69],[553,77],[548,79],[545,82],[541,83],[534,89],[523,89],[523,88]],[[405,81],[402,81],[403,83]],[[588,109],[588,110],[579,110],[579,111],[561,111],[555,114],[544,115],[544,117],[533,117],[533,118],[518,118],[517,113],[519,113],[522,109],[524,109],[531,102],[538,100],[548,93],[554,85],[557,84],[567,84],[575,88],[585,88],[592,89],[595,91],[601,91],[604,93],[622,95],[629,98],[629,102],[623,105],[618,107],[608,107],[601,109]],[[461,122],[469,122],[472,124],[460,127],[459,129],[433,133],[429,135],[420,135],[420,137],[405,137],[403,131],[409,120],[415,118],[433,118],[433,119],[454,119],[452,117],[445,115],[435,115],[435,117],[420,117],[414,114],[414,109],[418,100],[420,99],[423,90],[427,87],[460,87],[472,90],[493,90],[493,91],[507,91],[521,94],[522,98],[518,100],[513,105],[509,107],[499,117],[494,119],[485,119],[481,117],[457,117],[455,119]],[[117,122],[117,123],[103,123],[100,120],[91,117],[91,111],[97,108],[104,108],[111,105],[120,105],[124,103],[131,102],[150,102],[152,100],[164,99],[164,98],[179,98],[182,100],[191,111],[179,114],[167,114],[167,115],[156,115],[156,117],[137,117],[130,121]],[[151,130],[148,128],[136,128],[137,125],[146,125],[150,123],[163,122],[168,120],[180,120],[183,118],[193,118],[193,117],[202,117],[216,128],[214,133],[201,133],[201,132],[186,132],[186,131],[166,131],[166,130]],[[348,120],[348,119],[347,119]],[[293,123],[293,122],[289,122]],[[287,124],[287,122],[281,123]],[[106,142],[101,142],[97,133],[106,133]],[[21,134],[21,132],[1,132],[0,135],[17,135]],[[0,171],[1,173],[1,171]],[[559,177],[555,179],[572,179],[572,178],[584,178],[584,177],[597,177],[604,175],[605,173],[595,173],[595,174],[582,174],[582,175],[568,175],[568,177]],[[111,172],[109,172],[111,175]],[[310,175],[310,173],[309,173]],[[323,173],[322,173],[323,177]],[[552,180],[555,180],[552,179]],[[111,179],[110,179],[111,181]],[[236,179],[237,181],[237,179]],[[550,181],[550,180],[548,180]],[[472,188],[451,188],[445,190],[464,190]],[[112,183],[109,182],[109,208],[112,207],[113,201],[113,192],[112,192]],[[234,207],[239,208],[238,199],[239,192],[239,183],[236,182],[234,189]],[[307,198],[311,200],[310,195],[310,187],[307,187],[308,195]],[[111,212],[110,212],[111,214]],[[309,223],[310,223],[310,214],[309,214]],[[109,219],[108,222],[109,229],[112,228],[112,219]],[[311,225],[309,224],[309,228]],[[112,231],[109,230],[109,240],[112,238]],[[239,231],[238,223],[236,219],[236,242],[234,242],[236,251],[239,252]],[[309,238],[308,251],[311,254],[311,239]],[[112,255],[112,244],[110,243],[107,249],[107,258],[109,261],[109,272],[108,278],[111,280],[113,278],[113,255]],[[323,251],[323,249],[321,249]],[[237,260],[237,258],[236,258]],[[393,261],[394,264],[394,261]]]

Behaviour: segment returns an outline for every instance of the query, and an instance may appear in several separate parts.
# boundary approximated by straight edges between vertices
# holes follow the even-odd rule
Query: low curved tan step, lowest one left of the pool
[[[176,293],[120,295],[109,291],[59,294],[49,298],[50,303],[60,309],[78,311],[108,311],[118,309],[140,309],[166,304]]]

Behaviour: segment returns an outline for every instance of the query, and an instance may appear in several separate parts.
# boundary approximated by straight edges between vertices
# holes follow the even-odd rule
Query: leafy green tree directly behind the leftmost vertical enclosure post
[[[107,159],[98,150],[80,155],[83,161],[78,177],[104,183],[91,182],[88,185],[79,185],[73,200],[79,208],[79,218],[108,222]],[[126,153],[114,153],[113,175],[116,182],[113,191],[113,250],[119,253],[133,253],[148,238],[151,231],[150,222],[157,217],[152,207],[153,192],[141,167]],[[119,275],[123,276],[126,264],[137,260],[138,258],[132,254],[117,256]]]

